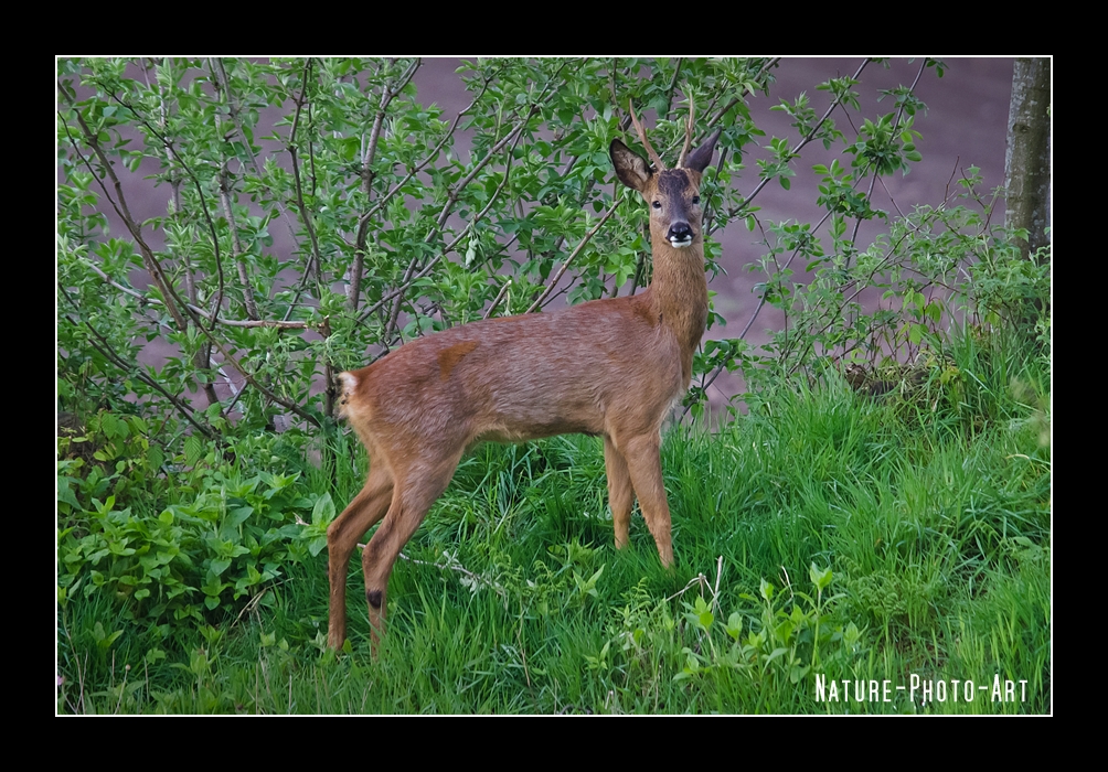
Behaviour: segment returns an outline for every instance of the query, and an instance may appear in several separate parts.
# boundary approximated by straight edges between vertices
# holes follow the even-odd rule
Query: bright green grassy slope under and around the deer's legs
[[[73,596],[58,710],[1049,712],[1046,379],[981,350],[955,359],[958,379],[907,400],[830,383],[716,434],[670,431],[673,573],[637,514],[630,548],[613,548],[598,440],[478,449],[397,564],[377,660],[357,560],[351,650],[322,647],[326,550],[168,635]],[[332,442],[346,461],[334,475],[304,463],[301,484],[341,506],[365,462]],[[817,675],[839,701],[817,699]],[[913,677],[946,700],[895,690]],[[966,702],[960,683],[954,701],[955,679],[988,689]],[[995,679],[1014,701],[991,699]],[[843,700],[843,680],[888,680],[890,701]]]

